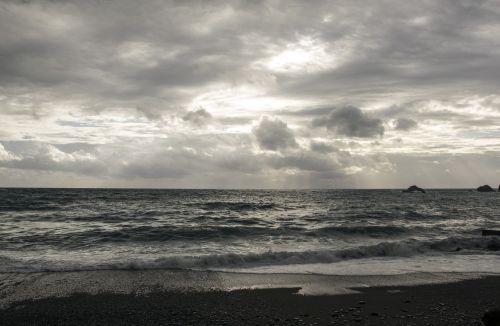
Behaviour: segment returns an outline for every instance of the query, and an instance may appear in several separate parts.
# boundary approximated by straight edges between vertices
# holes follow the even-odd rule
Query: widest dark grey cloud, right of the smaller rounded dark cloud
[[[367,138],[384,134],[382,120],[372,118],[354,106],[334,109],[327,117],[314,119],[313,126],[326,127],[337,135],[348,137]]]

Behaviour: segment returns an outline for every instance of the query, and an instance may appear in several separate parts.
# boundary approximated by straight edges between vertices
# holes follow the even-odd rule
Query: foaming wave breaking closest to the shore
[[[311,250],[311,251],[267,251],[250,254],[214,254],[204,256],[169,256],[148,260],[118,262],[73,262],[62,266],[58,262],[29,262],[23,267],[19,261],[9,257],[0,257],[3,267],[0,271],[74,271],[96,269],[218,269],[247,268],[258,266],[277,266],[292,264],[335,263],[339,261],[377,257],[412,257],[417,255],[437,254],[480,254],[500,250],[500,239],[497,237],[451,237],[441,240],[420,241],[416,239],[382,242],[376,245],[360,246],[343,250]],[[67,264],[67,262],[65,262]],[[49,267],[50,266],[50,267]]]

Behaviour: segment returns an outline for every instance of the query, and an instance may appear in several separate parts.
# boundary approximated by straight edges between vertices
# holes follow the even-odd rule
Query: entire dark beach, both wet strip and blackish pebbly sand
[[[170,280],[183,278],[183,287],[165,287],[164,278],[176,274]],[[251,279],[251,275],[208,274],[212,275],[184,271],[46,273],[32,275],[30,281],[25,277],[24,283],[21,275],[2,275],[0,320],[2,325],[483,325],[484,313],[500,305],[500,276],[470,275],[464,280],[446,276],[452,280],[447,283],[438,282],[445,277],[436,275],[385,276],[380,284],[390,284],[392,279],[400,285],[364,284],[344,293],[304,295],[298,281],[304,287],[328,286],[345,282],[347,277],[282,275],[283,283],[273,285],[257,275],[245,287],[224,289],[225,283],[231,284],[226,278]],[[145,285],[145,278],[151,283]],[[102,286],[105,279],[113,283],[107,289]],[[248,286],[257,279],[262,281],[260,286]],[[411,285],[426,279],[427,284]],[[75,284],[78,280],[80,285]],[[360,286],[369,278],[351,280]],[[221,287],[194,286],[204,281]],[[92,282],[93,289],[88,286]],[[331,288],[339,289],[335,284]],[[23,291],[22,299],[6,304],[9,295],[12,299]]]

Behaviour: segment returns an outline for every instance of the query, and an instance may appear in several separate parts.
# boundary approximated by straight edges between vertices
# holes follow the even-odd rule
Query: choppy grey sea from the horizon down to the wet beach
[[[0,272],[500,272],[500,194],[0,189]]]

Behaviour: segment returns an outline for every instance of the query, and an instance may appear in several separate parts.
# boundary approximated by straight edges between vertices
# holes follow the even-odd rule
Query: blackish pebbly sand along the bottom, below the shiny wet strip
[[[76,294],[0,310],[1,325],[482,325],[500,277],[303,296],[297,289]]]

